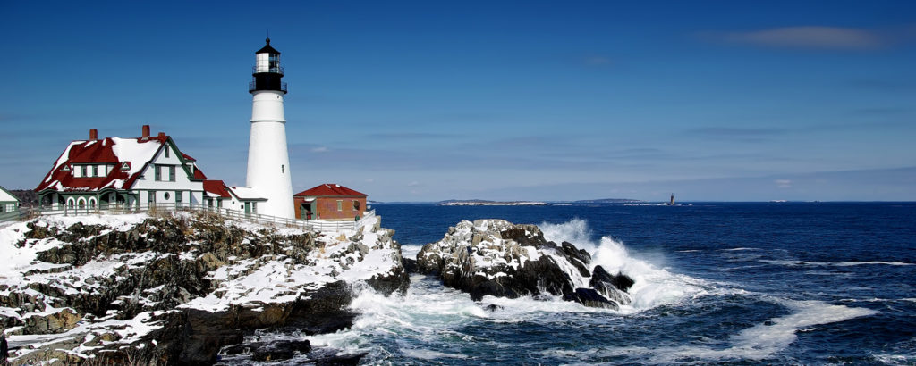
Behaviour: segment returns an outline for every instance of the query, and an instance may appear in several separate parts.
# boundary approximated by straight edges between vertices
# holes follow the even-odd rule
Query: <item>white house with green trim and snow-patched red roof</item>
[[[99,139],[91,129],[88,140],[64,149],[35,190],[45,210],[163,204],[256,211],[255,200],[239,199],[222,180],[207,180],[193,157],[168,135],[150,136],[148,125],[136,138]]]

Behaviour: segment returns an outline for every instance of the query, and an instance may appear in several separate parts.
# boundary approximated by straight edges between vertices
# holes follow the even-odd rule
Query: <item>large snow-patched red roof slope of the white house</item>
[[[153,157],[162,149],[162,146],[170,140],[168,135],[157,135],[147,138],[108,137],[103,140],[73,141],[60,154],[54,166],[35,190],[54,189],[74,192],[109,188],[129,189],[149,162],[153,160]],[[73,177],[71,173],[71,170],[75,168],[73,166],[82,164],[113,164],[114,168],[105,177]],[[200,170],[195,169],[194,178],[206,178],[203,172],[198,172]]]

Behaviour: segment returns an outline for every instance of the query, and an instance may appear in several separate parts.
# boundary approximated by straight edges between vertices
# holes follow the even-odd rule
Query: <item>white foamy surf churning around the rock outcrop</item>
[[[669,268],[639,258],[627,247],[611,237],[598,242],[592,239],[586,221],[573,220],[562,224],[541,223],[541,231],[551,242],[571,242],[576,247],[592,253],[592,265],[602,265],[611,274],[627,274],[635,280],[630,288],[632,304],[620,310],[584,307],[578,303],[553,297],[536,301],[531,297],[517,299],[485,296],[481,303],[458,290],[446,288],[439,281],[423,276],[411,277],[406,296],[380,296],[370,289],[363,290],[352,308],[361,313],[354,327],[333,334],[308,337],[315,346],[330,346],[350,352],[369,352],[364,361],[385,363],[413,360],[461,363],[469,348],[505,350],[518,348],[512,339],[478,339],[468,334],[469,328],[510,327],[513,323],[531,322],[553,324],[556,327],[573,327],[580,317],[606,316],[609,323],[621,317],[662,306],[690,307],[690,303],[703,301],[705,296],[759,296],[762,300],[787,307],[789,313],[750,328],[739,330],[727,339],[716,341],[719,346],[684,345],[677,347],[603,347],[596,344],[591,350],[541,349],[529,355],[540,354],[566,362],[591,362],[595,357],[638,357],[652,363],[678,363],[681,361],[767,360],[780,350],[785,350],[796,333],[805,328],[864,317],[875,313],[859,307],[845,307],[821,301],[794,301],[765,294],[752,294],[738,285],[714,283],[675,274]],[[403,245],[405,257],[415,257],[420,245]],[[575,272],[575,271],[573,271]],[[581,282],[587,279],[577,279]],[[496,311],[486,311],[484,306],[496,305]],[[654,316],[649,316],[654,318]],[[575,331],[575,329],[570,329]],[[451,360],[451,361],[450,361]]]

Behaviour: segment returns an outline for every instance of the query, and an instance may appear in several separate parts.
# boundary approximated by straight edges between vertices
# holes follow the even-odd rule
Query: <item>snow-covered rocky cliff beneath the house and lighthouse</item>
[[[181,212],[6,225],[0,328],[13,364],[213,363],[257,328],[349,327],[353,285],[405,292],[392,234],[377,221],[315,233]],[[284,352],[311,352],[295,346]]]

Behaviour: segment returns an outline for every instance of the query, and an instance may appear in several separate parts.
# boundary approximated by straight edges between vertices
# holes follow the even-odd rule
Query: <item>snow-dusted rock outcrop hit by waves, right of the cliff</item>
[[[503,220],[461,221],[417,254],[420,273],[437,275],[474,301],[550,294],[587,307],[629,304],[633,280],[593,269],[591,262],[591,254],[572,243],[548,242],[535,225]]]

